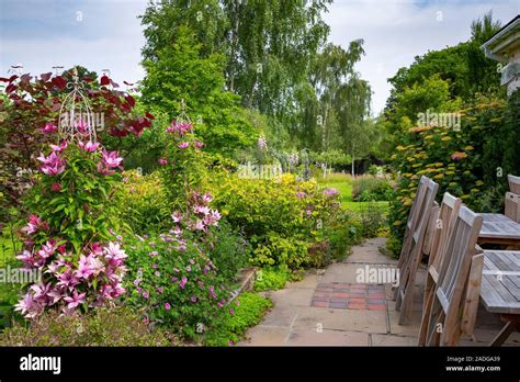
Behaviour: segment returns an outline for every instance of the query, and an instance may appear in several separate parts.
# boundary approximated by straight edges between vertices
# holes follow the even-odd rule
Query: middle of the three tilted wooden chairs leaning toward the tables
[[[428,272],[425,285],[425,297],[422,301],[422,312],[430,312],[434,299],[437,282],[439,281],[439,270],[442,267],[446,252],[448,235],[459,215],[462,201],[459,198],[445,192],[442,198],[441,207],[434,222],[434,234],[431,239],[431,249],[428,258]],[[419,346],[423,346],[429,327],[429,315],[422,315],[419,330]]]

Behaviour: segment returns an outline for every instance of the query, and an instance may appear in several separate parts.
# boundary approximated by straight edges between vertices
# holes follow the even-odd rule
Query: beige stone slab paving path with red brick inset
[[[381,254],[384,238],[355,246],[342,262],[290,282],[285,289],[265,292],[274,307],[239,346],[416,346],[421,315],[421,284],[425,268],[418,272],[412,322],[398,325],[398,312],[391,300],[389,283],[359,282],[370,269],[392,269],[397,260]],[[366,272],[365,272],[366,273]],[[500,329],[496,315],[479,312],[475,335],[478,342],[464,339],[461,345],[485,345]],[[520,336],[507,342],[520,346]]]

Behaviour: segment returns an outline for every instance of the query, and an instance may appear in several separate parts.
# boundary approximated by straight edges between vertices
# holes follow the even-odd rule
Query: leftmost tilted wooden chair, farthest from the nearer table
[[[427,177],[421,177],[408,215],[403,250],[397,265],[399,283],[394,292],[395,308],[400,311],[400,325],[411,318],[416,273],[421,260],[425,236],[438,190],[439,184]]]

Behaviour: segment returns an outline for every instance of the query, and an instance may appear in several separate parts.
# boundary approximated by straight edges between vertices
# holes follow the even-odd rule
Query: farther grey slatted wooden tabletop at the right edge
[[[484,218],[478,244],[520,245],[520,224],[502,214],[479,214]]]

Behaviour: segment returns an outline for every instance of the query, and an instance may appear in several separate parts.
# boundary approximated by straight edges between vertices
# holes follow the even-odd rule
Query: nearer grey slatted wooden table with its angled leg
[[[484,250],[481,300],[487,311],[506,322],[490,346],[500,346],[512,332],[520,332],[519,250]]]

